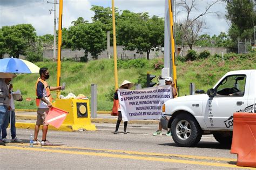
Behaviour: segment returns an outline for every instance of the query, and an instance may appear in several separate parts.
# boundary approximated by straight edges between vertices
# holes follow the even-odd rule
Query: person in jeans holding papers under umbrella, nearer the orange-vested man
[[[10,92],[12,92],[12,84],[10,84],[11,82],[11,78],[6,78],[5,79],[5,83],[7,84],[8,86],[8,89]],[[22,97],[20,99],[18,99],[17,101],[22,101]],[[11,116],[11,123],[10,123],[10,116]],[[18,139],[16,137],[16,127],[15,127],[15,104],[14,104],[14,96],[12,96],[11,94],[11,101],[10,101],[10,105],[8,107],[8,111],[6,113],[6,117],[5,117],[5,120],[4,120],[4,124],[3,124],[3,127],[2,127],[2,138],[3,138],[3,141],[5,143],[9,142],[8,139],[6,139],[6,136],[7,136],[7,127],[10,123],[10,128],[11,128],[11,142],[18,142],[18,143],[22,143],[22,140],[21,139]]]

